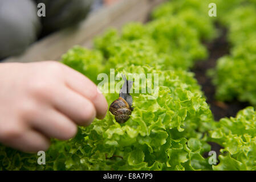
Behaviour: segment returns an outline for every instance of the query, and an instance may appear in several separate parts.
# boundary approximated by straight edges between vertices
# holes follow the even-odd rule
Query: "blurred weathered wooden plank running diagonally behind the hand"
[[[92,47],[94,36],[109,27],[121,28],[131,21],[145,22],[152,8],[164,0],[121,0],[90,14],[75,28],[67,28],[32,44],[21,56],[10,57],[5,62],[31,62],[60,60],[63,53],[75,45]]]

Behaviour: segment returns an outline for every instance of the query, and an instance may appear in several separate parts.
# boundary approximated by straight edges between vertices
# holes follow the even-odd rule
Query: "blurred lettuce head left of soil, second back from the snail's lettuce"
[[[206,48],[200,43],[197,31],[180,18],[168,16],[147,24],[149,34],[156,41],[159,52],[174,54],[178,51],[191,61],[205,59]]]

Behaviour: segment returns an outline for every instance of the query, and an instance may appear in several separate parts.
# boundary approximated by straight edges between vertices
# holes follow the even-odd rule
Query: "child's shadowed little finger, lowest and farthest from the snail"
[[[13,135],[5,141],[7,146],[23,152],[46,151],[50,146],[50,139],[34,130],[28,130],[22,135]]]

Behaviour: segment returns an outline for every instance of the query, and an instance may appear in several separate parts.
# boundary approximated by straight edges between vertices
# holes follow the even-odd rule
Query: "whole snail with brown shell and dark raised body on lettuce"
[[[124,123],[132,114],[132,96],[129,94],[133,81],[128,81],[124,75],[124,84],[119,92],[119,98],[112,102],[109,111],[115,115],[116,122]]]

